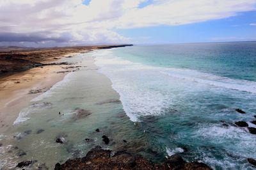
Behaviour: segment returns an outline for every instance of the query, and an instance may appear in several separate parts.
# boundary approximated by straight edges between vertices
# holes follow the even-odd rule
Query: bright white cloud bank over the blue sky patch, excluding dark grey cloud
[[[40,33],[47,39],[63,39],[73,44],[124,43],[131,39],[115,29],[227,18],[255,10],[256,4],[256,0],[159,0],[138,8],[145,1],[92,0],[84,5],[83,0],[0,0],[0,32]]]

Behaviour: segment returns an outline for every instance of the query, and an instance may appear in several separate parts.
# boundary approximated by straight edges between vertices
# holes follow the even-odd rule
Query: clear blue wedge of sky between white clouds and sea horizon
[[[223,41],[255,41],[256,11],[237,14],[235,17],[209,20],[185,25],[159,25],[140,29],[118,29],[138,43],[202,43]]]

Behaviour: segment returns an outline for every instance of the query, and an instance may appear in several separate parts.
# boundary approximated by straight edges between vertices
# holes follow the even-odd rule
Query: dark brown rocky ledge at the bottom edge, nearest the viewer
[[[149,160],[134,156],[127,152],[104,150],[100,146],[93,148],[83,158],[67,160],[64,164],[56,164],[55,170],[68,169],[184,169],[209,170],[211,167],[200,162],[186,162],[179,155],[168,157],[163,164],[155,164]]]

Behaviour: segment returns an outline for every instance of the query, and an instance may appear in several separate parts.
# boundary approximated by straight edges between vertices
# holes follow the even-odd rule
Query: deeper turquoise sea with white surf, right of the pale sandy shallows
[[[246,158],[256,157],[255,135],[234,122],[244,120],[255,127],[250,124],[256,115],[255,47],[256,43],[132,46],[94,56],[100,73],[120,94],[127,116],[150,136],[150,148],[180,153],[214,169],[252,169]]]

